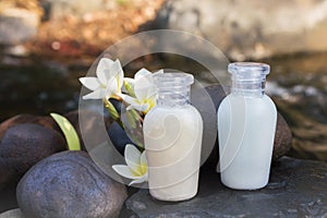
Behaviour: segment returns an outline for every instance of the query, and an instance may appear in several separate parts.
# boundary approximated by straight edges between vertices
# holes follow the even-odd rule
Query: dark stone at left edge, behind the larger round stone
[[[0,144],[0,190],[13,185],[39,160],[66,149],[64,138],[38,124],[10,128]]]

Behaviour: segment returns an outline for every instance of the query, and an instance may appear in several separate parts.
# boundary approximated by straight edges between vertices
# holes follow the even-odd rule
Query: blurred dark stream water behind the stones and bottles
[[[141,59],[126,66],[135,73]],[[327,53],[300,55],[263,60],[270,64],[267,93],[291,125],[294,142],[291,156],[327,161]],[[3,57],[0,62],[0,121],[17,113],[64,113],[77,109],[81,84],[92,61],[59,63],[34,58]],[[152,58],[150,70],[175,68],[203,72],[197,63],[180,58]],[[207,81],[209,83],[209,81]]]

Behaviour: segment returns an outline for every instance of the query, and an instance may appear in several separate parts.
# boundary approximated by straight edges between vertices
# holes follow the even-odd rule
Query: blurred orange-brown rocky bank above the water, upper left
[[[153,20],[162,0],[3,0],[0,44],[15,56],[96,57]]]

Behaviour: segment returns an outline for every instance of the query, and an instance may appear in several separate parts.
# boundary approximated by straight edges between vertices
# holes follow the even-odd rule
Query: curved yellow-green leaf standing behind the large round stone
[[[50,113],[50,116],[53,118],[53,120],[57,122],[57,124],[63,132],[69,150],[81,150],[78,135],[71,122],[58,113]]]

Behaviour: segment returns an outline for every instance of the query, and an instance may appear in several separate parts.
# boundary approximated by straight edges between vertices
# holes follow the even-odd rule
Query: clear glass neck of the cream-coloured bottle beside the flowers
[[[190,105],[193,75],[187,73],[164,73],[156,77],[157,105],[181,107]]]

